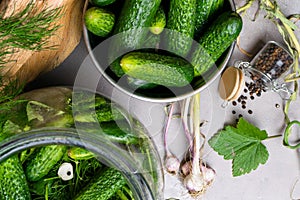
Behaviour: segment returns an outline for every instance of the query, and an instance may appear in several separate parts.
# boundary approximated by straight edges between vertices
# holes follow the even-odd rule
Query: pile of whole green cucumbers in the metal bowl
[[[129,86],[183,87],[208,73],[241,32],[226,1],[90,0],[85,25],[99,41],[113,38],[109,68]]]

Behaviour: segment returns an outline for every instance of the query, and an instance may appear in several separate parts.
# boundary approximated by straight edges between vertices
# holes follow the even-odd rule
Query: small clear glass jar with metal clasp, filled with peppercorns
[[[293,57],[280,44],[269,41],[249,62],[237,62],[246,77],[250,78],[250,93],[275,91],[283,99],[292,94],[283,78],[294,63]]]

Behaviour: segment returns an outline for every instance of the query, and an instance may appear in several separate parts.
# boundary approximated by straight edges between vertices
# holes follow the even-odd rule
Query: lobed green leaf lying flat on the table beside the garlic
[[[226,126],[208,141],[209,145],[224,159],[232,159],[232,174],[240,176],[265,164],[269,154],[261,143],[268,138],[266,131],[240,118],[237,128]]]

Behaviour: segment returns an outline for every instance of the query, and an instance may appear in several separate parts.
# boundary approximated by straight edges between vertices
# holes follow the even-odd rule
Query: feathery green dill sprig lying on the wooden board
[[[5,18],[3,14],[0,15],[0,50],[11,53],[7,47],[28,50],[49,48],[47,39],[60,27],[53,25],[52,22],[61,16],[61,10],[61,7],[45,8],[35,13],[35,5],[31,1],[19,13],[13,13]]]

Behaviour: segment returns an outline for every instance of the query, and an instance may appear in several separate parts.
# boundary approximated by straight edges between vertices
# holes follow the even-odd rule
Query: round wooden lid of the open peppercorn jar
[[[228,67],[222,74],[219,82],[219,94],[224,100],[238,98],[244,83],[243,72],[233,66]]]

